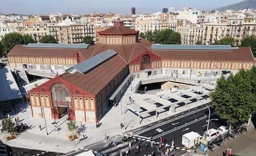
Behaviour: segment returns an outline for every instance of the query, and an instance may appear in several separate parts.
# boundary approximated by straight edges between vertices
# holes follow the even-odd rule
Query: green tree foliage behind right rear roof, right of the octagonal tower
[[[178,32],[165,29],[154,34],[154,41],[159,44],[180,44],[181,36]]]

